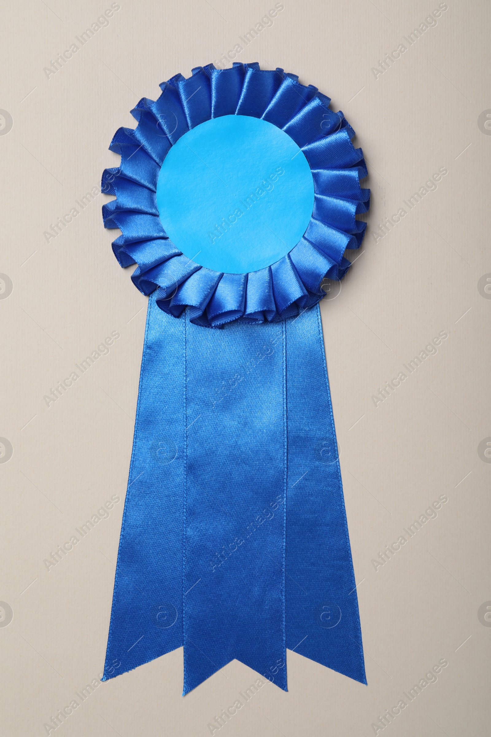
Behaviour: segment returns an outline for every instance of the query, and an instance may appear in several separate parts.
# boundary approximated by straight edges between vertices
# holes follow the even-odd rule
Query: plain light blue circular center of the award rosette
[[[188,259],[247,273],[274,264],[300,241],[314,181],[297,144],[244,115],[207,120],[163,161],[157,184],[163,228]]]

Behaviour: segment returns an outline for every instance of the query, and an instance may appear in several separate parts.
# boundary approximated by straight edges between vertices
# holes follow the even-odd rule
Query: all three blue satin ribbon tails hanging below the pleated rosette
[[[149,299],[104,679],[184,646],[186,694],[286,648],[363,683],[319,307],[222,330]]]

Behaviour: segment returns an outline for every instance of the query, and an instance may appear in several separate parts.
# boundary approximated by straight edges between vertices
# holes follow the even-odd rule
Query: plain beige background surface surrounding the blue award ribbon
[[[43,232],[117,166],[107,146],[120,125],[135,127],[140,97],[218,60],[274,3],[120,5],[49,79],[43,68],[110,0],[2,8],[0,108],[13,119],[0,136],[0,272],[13,284],[7,296],[0,283],[0,436],[13,445],[0,464],[0,600],[13,610],[0,627],[2,736],[45,734],[102,671],[144,339],[146,299],[114,259],[104,195],[56,239]],[[481,737],[490,730],[491,629],[478,608],[491,600],[491,465],[478,444],[491,436],[491,301],[478,280],[491,272],[491,136],[478,116],[491,108],[490,8],[448,0],[437,25],[375,77],[381,55],[437,1],[284,6],[239,60],[281,66],[332,97],[370,171],[363,255],[322,304],[369,685],[289,652],[289,692],[266,685],[220,734],[368,736],[445,658],[438,681],[384,734]],[[448,175],[437,190],[375,242],[382,217],[439,167]],[[121,338],[110,354],[46,407],[43,395],[113,330]],[[372,394],[440,330],[448,339],[437,354],[375,408]],[[114,494],[110,517],[47,571],[43,559]],[[439,495],[448,503],[437,519],[375,571],[372,559]],[[204,737],[255,677],[234,661],[183,699],[179,649],[99,686],[56,733]]]

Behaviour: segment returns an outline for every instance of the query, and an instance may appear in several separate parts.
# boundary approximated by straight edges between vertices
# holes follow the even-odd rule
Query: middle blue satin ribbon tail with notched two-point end
[[[186,315],[184,694],[233,659],[286,690],[285,378],[284,323]]]

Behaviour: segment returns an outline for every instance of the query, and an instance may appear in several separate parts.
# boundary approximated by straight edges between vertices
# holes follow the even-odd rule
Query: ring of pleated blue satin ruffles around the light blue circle
[[[360,181],[367,167],[352,143],[353,128],[328,97],[302,85],[283,69],[258,63],[213,64],[177,74],[160,85],[153,101],[143,98],[131,111],[137,127],[119,128],[110,150],[121,155],[117,168],[102,175],[102,192],[116,199],[102,208],[105,228],[119,228],[113,251],[122,267],[137,264],[132,280],[156,303],[191,322],[219,327],[230,321],[261,323],[294,317],[325,296],[323,280],[342,279],[350,262],[345,250],[359,248],[370,189]],[[263,119],[287,133],[311,167],[314,209],[300,242],[279,261],[251,273],[220,273],[188,259],[160,221],[156,189],[167,153],[188,130],[224,115]]]

